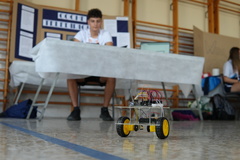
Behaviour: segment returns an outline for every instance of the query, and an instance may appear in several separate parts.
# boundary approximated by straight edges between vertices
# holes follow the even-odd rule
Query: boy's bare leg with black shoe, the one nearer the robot
[[[101,77],[100,82],[106,82],[104,90],[104,102],[103,107],[101,108],[100,118],[102,118],[104,121],[113,121],[113,118],[108,112],[108,106],[115,90],[116,79]]]

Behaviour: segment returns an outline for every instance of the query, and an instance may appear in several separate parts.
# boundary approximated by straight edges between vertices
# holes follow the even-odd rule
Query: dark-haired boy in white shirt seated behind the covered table
[[[99,45],[109,45],[112,46],[112,37],[110,33],[106,30],[101,29],[102,27],[102,12],[99,9],[91,9],[88,11],[87,22],[89,25],[89,29],[79,31],[75,37],[74,41],[82,42],[82,43],[93,43]],[[91,57],[89,57],[89,61]],[[81,69],[81,68],[79,68]],[[84,68],[83,68],[84,69]],[[88,80],[93,80],[95,82],[99,82],[100,84],[106,84],[104,90],[104,103],[101,108],[100,118],[104,121],[113,121],[113,118],[110,116],[108,112],[108,105],[110,103],[112,94],[115,89],[115,78],[109,77],[88,77],[85,79],[68,79],[68,91],[72,101],[72,105],[74,106],[74,110],[68,116],[67,120],[69,121],[78,121],[81,120],[80,117],[80,106],[78,106],[78,88],[77,83],[84,83]]]

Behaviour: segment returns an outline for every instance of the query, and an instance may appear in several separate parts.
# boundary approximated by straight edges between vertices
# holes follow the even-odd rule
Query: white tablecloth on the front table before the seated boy
[[[204,58],[152,51],[44,39],[31,50],[41,77],[114,77],[144,83],[179,84],[188,94],[201,85]],[[159,83],[160,84],[160,83]]]

